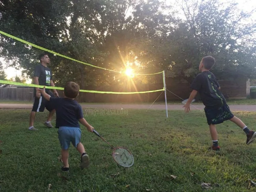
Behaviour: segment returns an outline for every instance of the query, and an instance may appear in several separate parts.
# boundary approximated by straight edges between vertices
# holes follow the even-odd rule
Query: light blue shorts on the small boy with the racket
[[[59,142],[61,149],[69,149],[70,142],[76,148],[81,141],[81,129],[79,127],[59,127]]]

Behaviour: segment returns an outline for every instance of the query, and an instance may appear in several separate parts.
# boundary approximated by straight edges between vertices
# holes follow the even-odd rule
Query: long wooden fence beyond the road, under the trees
[[[246,98],[248,94],[247,79],[236,80],[220,80],[221,92],[226,98],[241,99]],[[188,98],[191,92],[189,83],[186,81],[178,81],[177,79],[166,79],[167,100],[181,100],[180,98]],[[87,90],[113,91],[113,92],[137,92],[147,90],[163,89],[162,83],[137,85],[134,87],[109,86],[109,87],[87,87]],[[59,96],[62,97],[63,90],[57,90]],[[154,102],[161,92],[143,93],[143,94],[99,94],[80,92],[76,99],[79,102]],[[180,98],[179,98],[180,97]],[[0,88],[0,100],[14,101],[33,101],[33,88]],[[165,97],[162,93],[158,98],[158,102],[164,101]]]

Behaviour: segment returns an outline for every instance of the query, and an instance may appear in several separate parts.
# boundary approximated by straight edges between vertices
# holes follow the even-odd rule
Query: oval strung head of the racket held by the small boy
[[[134,157],[126,148],[116,148],[113,151],[112,156],[115,162],[121,166],[130,167],[134,164]]]

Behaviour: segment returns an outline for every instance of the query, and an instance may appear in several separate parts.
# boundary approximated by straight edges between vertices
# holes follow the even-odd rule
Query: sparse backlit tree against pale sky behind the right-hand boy
[[[256,47],[252,37],[256,22],[245,22],[253,11],[245,13],[237,4],[219,0],[184,0],[177,4],[185,19],[173,22],[167,38],[147,44],[146,62],[153,61],[170,76],[190,82],[206,55],[215,57],[213,71],[219,78],[250,78],[255,74]]]

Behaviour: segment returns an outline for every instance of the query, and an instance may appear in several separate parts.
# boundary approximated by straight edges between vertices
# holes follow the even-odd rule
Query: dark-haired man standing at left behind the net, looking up
[[[37,65],[34,70],[34,84],[36,85],[43,85],[43,86],[52,86],[54,87],[54,83],[52,81],[52,71],[47,67],[50,64],[50,58],[47,54],[39,55],[40,65]],[[46,92],[50,94],[50,96],[59,97],[58,92],[56,89],[53,90],[54,94],[50,91],[50,89],[46,89]],[[45,100],[45,98],[41,95],[39,88],[34,89],[34,97],[35,101],[33,104],[32,111],[30,113],[30,127],[29,130],[37,131],[33,126],[35,120],[35,114],[37,112],[43,112],[45,108],[49,111],[49,116],[46,122],[44,123],[45,126],[52,128],[51,120],[55,113],[55,110],[52,106],[49,105],[49,102]]]

